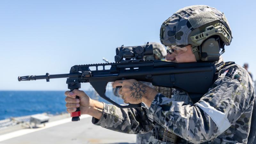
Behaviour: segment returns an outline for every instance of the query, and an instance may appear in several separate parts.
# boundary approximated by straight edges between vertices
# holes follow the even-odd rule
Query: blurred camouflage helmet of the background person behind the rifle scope
[[[154,56],[144,56],[145,60],[162,60],[167,55],[165,47],[161,43],[150,42],[149,44],[153,45],[153,54]]]

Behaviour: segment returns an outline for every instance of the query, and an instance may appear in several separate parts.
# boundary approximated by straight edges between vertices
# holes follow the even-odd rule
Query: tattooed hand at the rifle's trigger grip
[[[135,79],[117,80],[112,84],[113,88],[122,86],[118,93],[122,96],[124,103],[138,104],[145,99],[154,99],[156,91],[151,87],[138,82]]]

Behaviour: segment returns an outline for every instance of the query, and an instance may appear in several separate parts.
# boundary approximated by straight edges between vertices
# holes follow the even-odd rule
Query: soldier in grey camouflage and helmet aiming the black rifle
[[[252,79],[244,68],[220,57],[232,40],[225,15],[206,5],[182,8],[164,21],[160,40],[167,47],[166,60],[216,61],[216,78],[198,102],[192,103],[181,90],[171,89],[171,98],[165,97],[130,79],[115,81],[113,87],[122,86],[119,94],[124,102],[143,102],[141,108],[117,108],[74,90],[65,92],[67,111],[75,112],[80,106],[81,114],[93,116],[93,124],[118,132],[138,134],[153,129],[149,143],[251,143],[255,136]],[[139,99],[133,97],[136,92]]]

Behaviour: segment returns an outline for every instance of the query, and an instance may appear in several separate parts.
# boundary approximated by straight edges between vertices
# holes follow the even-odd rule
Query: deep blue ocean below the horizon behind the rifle
[[[109,103],[94,91],[86,93],[92,99]],[[123,103],[112,92],[107,91],[106,95],[118,103]],[[57,115],[67,112],[65,97],[64,91],[0,91],[0,120],[39,113]]]

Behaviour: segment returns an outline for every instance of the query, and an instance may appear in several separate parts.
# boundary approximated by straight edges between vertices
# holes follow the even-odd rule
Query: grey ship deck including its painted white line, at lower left
[[[0,129],[0,144],[129,144],[136,142],[135,134],[125,134],[104,129],[91,122],[92,117],[81,116],[71,122],[69,114],[52,116],[48,123],[38,128],[18,124]]]

